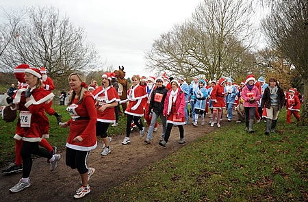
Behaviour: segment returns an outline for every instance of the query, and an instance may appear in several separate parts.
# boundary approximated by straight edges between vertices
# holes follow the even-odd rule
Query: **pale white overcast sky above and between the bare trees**
[[[0,6],[52,5],[76,27],[84,27],[106,66],[123,65],[126,77],[145,75],[144,51],[176,23],[190,18],[202,0],[0,0]]]

